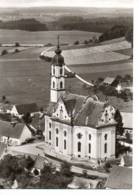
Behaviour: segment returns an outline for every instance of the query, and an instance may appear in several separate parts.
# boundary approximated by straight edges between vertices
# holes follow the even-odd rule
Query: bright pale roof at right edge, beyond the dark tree
[[[133,129],[133,114],[129,112],[121,112],[123,119],[123,127]]]

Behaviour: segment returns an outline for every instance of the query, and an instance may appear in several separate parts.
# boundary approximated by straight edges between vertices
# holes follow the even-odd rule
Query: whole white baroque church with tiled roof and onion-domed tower
[[[97,96],[66,92],[65,62],[58,44],[51,62],[45,142],[57,154],[98,163],[115,158],[115,109]]]

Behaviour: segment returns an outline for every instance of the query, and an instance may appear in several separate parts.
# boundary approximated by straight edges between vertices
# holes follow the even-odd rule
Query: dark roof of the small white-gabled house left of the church
[[[38,106],[36,103],[30,103],[30,104],[17,104],[15,105],[17,112],[19,114],[26,114],[26,113],[33,113],[38,112]]]

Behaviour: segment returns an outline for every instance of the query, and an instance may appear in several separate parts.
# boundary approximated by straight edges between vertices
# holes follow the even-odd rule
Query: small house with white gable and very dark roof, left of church
[[[14,105],[11,109],[11,115],[16,117],[22,117],[27,113],[35,114],[37,112],[39,112],[39,108],[36,103],[18,104]]]

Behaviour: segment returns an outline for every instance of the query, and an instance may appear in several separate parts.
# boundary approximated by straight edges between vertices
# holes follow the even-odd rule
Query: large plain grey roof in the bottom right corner
[[[106,187],[111,189],[131,189],[132,169],[127,167],[113,166],[107,179]]]

